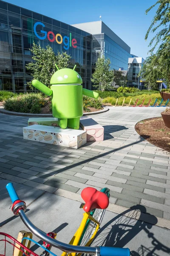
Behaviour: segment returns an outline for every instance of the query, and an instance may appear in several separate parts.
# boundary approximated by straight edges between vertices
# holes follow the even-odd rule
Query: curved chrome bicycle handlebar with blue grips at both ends
[[[17,192],[14,189],[12,183],[6,185],[6,189],[10,195],[12,203],[19,200]],[[20,203],[18,203],[20,204]],[[59,248],[62,251],[68,253],[92,253],[96,256],[130,256],[130,250],[128,248],[115,248],[115,247],[86,247],[86,246],[75,246],[71,244],[65,244],[56,239],[47,236],[45,232],[34,226],[34,224],[28,219],[22,207],[18,209],[17,213],[20,215],[23,223],[28,227],[28,229],[42,241],[45,241],[52,246]]]

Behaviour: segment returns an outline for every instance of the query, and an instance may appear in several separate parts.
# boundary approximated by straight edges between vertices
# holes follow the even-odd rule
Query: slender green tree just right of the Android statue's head
[[[104,56],[97,59],[91,81],[94,83],[94,87],[97,87],[99,90],[105,91],[111,88],[114,74],[113,70],[110,70],[110,64],[111,61],[105,59]]]

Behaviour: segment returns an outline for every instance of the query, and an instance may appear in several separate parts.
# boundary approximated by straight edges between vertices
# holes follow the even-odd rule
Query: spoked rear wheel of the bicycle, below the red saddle
[[[107,195],[108,198],[110,197],[110,190],[108,188],[101,189],[100,192],[105,193],[105,195]],[[93,209],[91,211],[90,215],[93,216],[93,218],[101,224],[102,219],[105,215],[105,211],[106,211],[106,209]],[[88,219],[88,221],[85,224],[85,229],[80,238],[79,245],[85,246],[88,243],[88,241],[93,236],[94,231],[96,230],[96,226],[97,225],[96,225],[96,223],[94,223],[94,221],[91,221],[90,219]],[[93,240],[91,241],[91,243],[92,242],[93,242]],[[88,246],[90,246],[90,245],[91,244],[88,244]]]

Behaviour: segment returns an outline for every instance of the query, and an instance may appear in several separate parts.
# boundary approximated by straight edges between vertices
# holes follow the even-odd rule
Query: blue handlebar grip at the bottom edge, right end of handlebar
[[[130,256],[128,248],[100,247],[101,256]]]

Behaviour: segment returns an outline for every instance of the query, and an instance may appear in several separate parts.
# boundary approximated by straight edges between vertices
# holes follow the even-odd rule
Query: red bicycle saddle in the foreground
[[[109,205],[109,198],[105,193],[97,189],[88,187],[82,190],[82,199],[85,201],[83,209],[85,212],[90,212],[93,209],[106,209]]]

